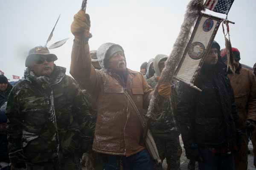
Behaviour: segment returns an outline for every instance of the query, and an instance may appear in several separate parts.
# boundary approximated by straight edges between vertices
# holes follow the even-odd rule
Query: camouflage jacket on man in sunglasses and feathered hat
[[[7,103],[9,151],[23,149],[32,163],[87,148],[95,123],[90,103],[66,68],[55,66],[51,77],[25,79],[12,89]]]

